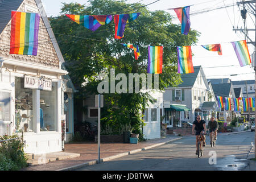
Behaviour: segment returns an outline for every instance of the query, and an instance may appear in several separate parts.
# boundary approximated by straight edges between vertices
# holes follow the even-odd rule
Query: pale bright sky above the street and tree
[[[147,5],[154,1],[156,0],[142,0],[140,3]],[[197,46],[192,46],[193,65],[201,65],[207,79],[230,78],[232,81],[254,80],[254,69],[251,68],[250,65],[240,67],[236,53],[234,52],[233,46],[230,43],[245,39],[245,35],[243,33],[241,33],[240,31],[233,31],[233,26],[243,28],[243,19],[241,18],[240,13],[240,9],[242,9],[242,6],[240,6],[240,9],[237,5],[228,7],[232,4],[236,4],[237,1],[240,2],[241,0],[160,0],[152,5],[148,5],[147,7],[150,11],[165,10],[167,13],[170,13],[174,16],[172,23],[180,24],[179,20],[176,18],[175,11],[167,9],[190,5],[191,29],[197,30],[201,33]],[[87,3],[86,0],[42,0],[47,16],[59,15],[62,5],[61,2],[77,2],[85,5]],[[134,2],[139,1],[127,0],[127,3]],[[215,9],[225,6],[226,8],[193,15],[193,13],[198,13],[204,10]],[[139,12],[139,10],[135,11],[134,13],[136,12]],[[255,16],[247,12],[247,28],[255,29],[254,22]],[[249,31],[249,38],[253,41],[255,40],[255,31]],[[214,43],[221,43],[221,56],[218,55],[217,52],[207,51],[200,46]],[[254,52],[254,46],[248,44],[248,47],[249,53],[251,55]]]

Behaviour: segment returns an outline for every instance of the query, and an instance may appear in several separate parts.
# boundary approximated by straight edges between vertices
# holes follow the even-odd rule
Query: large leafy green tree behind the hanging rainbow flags
[[[63,3],[63,15],[51,18],[51,26],[64,55],[65,67],[74,84],[79,87],[79,99],[85,99],[89,94],[97,94],[97,85],[100,82],[97,80],[98,74],[104,72],[110,78],[110,68],[115,69],[115,75],[125,73],[127,78],[129,73],[147,73],[147,46],[164,46],[163,73],[159,75],[159,89],[180,84],[176,46],[195,44],[199,32],[191,30],[187,36],[182,35],[180,24],[172,24],[173,17],[169,13],[161,10],[149,11],[147,7],[142,6],[141,3],[129,4],[126,1],[114,0],[90,0],[86,6],[79,3]],[[127,23],[122,39],[114,39],[114,20],[92,32],[64,15],[138,12],[141,12],[141,15],[133,22]],[[122,46],[122,43],[138,45],[141,52],[139,59],[135,60],[133,49]],[[116,131],[121,125],[130,123],[136,128],[134,132],[141,133],[143,121],[140,113],[148,103],[147,93],[105,93],[104,98],[102,122]]]

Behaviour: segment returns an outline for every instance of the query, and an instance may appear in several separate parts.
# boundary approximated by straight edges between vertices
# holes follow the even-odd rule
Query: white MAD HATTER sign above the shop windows
[[[52,90],[52,80],[46,77],[34,77],[24,75],[24,88]]]

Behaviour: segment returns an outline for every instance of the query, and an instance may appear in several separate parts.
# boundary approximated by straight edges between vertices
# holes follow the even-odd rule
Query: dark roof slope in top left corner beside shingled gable
[[[0,32],[11,19],[11,10],[18,10],[23,0],[0,0]]]

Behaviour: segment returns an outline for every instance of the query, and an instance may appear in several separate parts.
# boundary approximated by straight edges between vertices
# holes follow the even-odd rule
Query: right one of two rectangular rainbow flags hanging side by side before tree
[[[193,73],[191,46],[177,47],[178,73]]]

